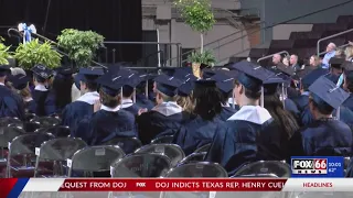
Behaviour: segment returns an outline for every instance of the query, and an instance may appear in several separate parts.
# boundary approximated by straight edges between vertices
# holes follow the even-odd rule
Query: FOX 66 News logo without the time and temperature
[[[292,174],[318,175],[328,174],[327,158],[292,158]]]

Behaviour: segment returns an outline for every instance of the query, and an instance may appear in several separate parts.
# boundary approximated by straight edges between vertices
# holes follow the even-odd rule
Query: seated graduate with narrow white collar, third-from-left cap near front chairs
[[[119,107],[125,80],[111,73],[97,79],[100,99],[94,106],[95,113],[79,122],[75,138],[82,138],[89,145],[100,145],[114,138],[137,136],[135,116]]]

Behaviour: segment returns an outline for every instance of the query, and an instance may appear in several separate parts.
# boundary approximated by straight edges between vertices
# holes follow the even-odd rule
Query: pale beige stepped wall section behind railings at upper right
[[[312,24],[279,24],[274,26],[274,40],[289,40],[291,32],[309,32]]]

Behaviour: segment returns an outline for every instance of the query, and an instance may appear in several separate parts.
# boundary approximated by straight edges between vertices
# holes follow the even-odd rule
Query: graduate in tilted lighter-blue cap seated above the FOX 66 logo
[[[292,151],[306,156],[351,156],[352,131],[332,117],[349,94],[330,79],[320,77],[310,87],[309,108],[314,122],[296,133]]]

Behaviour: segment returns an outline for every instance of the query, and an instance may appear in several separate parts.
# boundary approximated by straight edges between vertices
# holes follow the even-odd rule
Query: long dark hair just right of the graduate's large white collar
[[[268,110],[274,120],[280,124],[280,129],[284,129],[288,138],[287,140],[289,140],[293,133],[299,130],[296,118],[285,110],[282,102],[279,100],[278,94],[265,95],[264,107]]]

